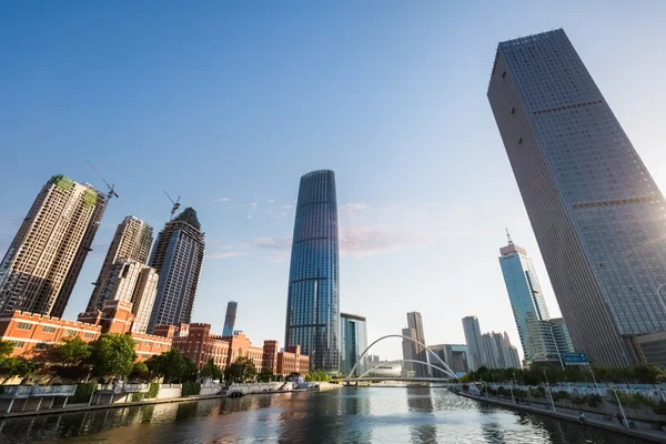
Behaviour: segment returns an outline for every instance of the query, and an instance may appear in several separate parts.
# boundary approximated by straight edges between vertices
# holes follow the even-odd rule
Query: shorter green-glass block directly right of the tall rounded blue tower
[[[361,353],[367,347],[367,327],[365,317],[356,314],[340,313],[340,373],[346,376],[359,362]],[[370,370],[367,355],[354,371],[362,375]]]

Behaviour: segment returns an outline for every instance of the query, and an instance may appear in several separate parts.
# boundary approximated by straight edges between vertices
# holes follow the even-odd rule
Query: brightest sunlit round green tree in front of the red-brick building
[[[134,340],[129,334],[110,333],[90,344],[90,361],[100,376],[127,376],[134,366]]]

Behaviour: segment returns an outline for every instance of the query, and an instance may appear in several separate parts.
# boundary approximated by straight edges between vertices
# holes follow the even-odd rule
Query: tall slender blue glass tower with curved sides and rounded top
[[[335,173],[301,178],[286,300],[285,346],[301,345],[311,370],[340,370]]]

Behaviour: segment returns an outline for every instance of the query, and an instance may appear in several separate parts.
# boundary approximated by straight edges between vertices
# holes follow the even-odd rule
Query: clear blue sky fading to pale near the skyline
[[[486,98],[498,41],[564,28],[666,190],[663,1],[4,1],[0,254],[63,173],[115,184],[65,315],[84,310],[115,226],[196,210],[206,258],[193,322],[229,300],[255,345],[284,340],[300,176],[336,174],[340,299],[370,340],[423,314],[519,345],[497,261],[505,228],[559,313]],[[11,184],[11,186],[9,186]],[[519,349],[519,346],[518,346]],[[401,357],[400,339],[371,353]]]

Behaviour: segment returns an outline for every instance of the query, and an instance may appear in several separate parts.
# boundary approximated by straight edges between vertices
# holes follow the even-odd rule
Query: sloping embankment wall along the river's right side
[[[514,404],[513,402],[501,400],[501,398],[494,398],[494,397],[487,398],[484,396],[474,396],[468,393],[462,393],[462,392],[455,392],[455,391],[452,391],[452,393],[455,393],[458,396],[467,397],[470,400],[485,402],[485,403],[494,404],[494,405],[500,405],[505,408],[517,410],[517,411],[522,411],[522,412],[529,412],[529,413],[535,413],[538,415],[546,415],[546,416],[555,417],[558,420],[565,420],[565,421],[571,421],[574,423],[579,423],[578,412],[572,411],[569,408],[557,407],[557,411],[553,412],[552,410],[549,410],[551,407],[548,405],[545,405],[545,406],[541,405],[537,407],[534,405]],[[644,423],[637,424],[637,427],[639,427],[639,430],[629,430],[629,428],[622,426],[619,423],[614,423],[612,421],[607,421],[607,420],[604,420],[603,417],[597,417],[597,416],[599,416],[599,415],[586,412],[586,414],[585,414],[586,424],[589,426],[593,426],[593,427],[620,433],[620,434],[624,434],[627,436],[637,437],[637,438],[642,438],[642,440],[646,440],[646,441],[652,441],[654,443],[666,443],[666,433],[665,432],[656,431],[656,430],[640,430],[640,427],[645,427]]]

